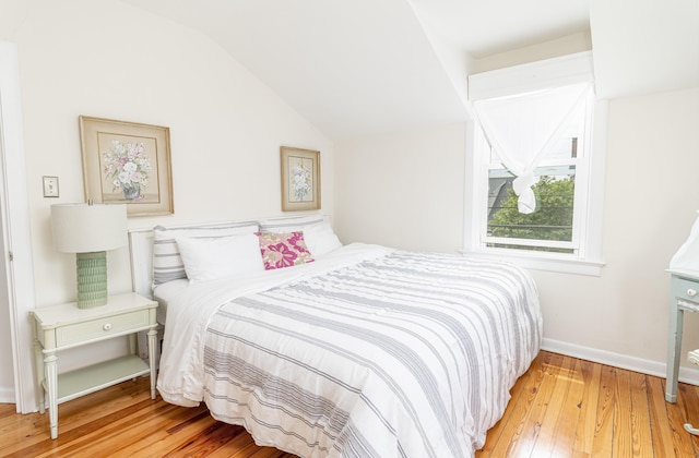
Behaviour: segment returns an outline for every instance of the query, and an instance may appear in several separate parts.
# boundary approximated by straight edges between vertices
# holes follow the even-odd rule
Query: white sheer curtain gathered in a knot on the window
[[[519,196],[520,213],[536,209],[534,169],[591,91],[592,85],[583,83],[474,101],[476,118],[490,146],[517,177],[512,189]]]

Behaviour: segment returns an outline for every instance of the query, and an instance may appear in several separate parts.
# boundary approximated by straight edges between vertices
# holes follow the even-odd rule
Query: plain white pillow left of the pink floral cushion
[[[178,238],[177,245],[190,281],[264,270],[258,238],[253,233],[216,239]]]

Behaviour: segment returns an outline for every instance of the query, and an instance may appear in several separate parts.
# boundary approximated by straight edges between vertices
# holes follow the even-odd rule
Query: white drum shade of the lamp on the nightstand
[[[51,205],[54,248],[63,253],[109,251],[128,243],[127,206]]]

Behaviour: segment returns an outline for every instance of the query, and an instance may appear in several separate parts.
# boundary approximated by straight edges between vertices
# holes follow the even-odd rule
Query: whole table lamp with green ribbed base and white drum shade
[[[127,244],[127,206],[51,205],[54,246],[76,253],[78,308],[107,303],[107,250]]]

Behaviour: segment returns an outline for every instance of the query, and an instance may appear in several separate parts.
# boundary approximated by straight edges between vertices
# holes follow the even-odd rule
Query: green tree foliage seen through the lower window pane
[[[511,189],[501,207],[488,221],[493,237],[570,241],[574,179],[543,176],[533,186],[536,210],[524,215],[517,209],[517,195]]]

